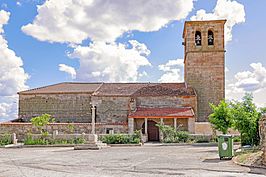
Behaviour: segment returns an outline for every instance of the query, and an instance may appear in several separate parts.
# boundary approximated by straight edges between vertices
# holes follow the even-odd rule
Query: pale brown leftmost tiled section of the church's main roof
[[[42,93],[93,93],[102,83],[77,83],[64,82],[45,87],[39,87],[18,94],[42,94]]]

